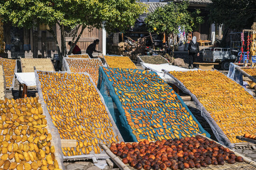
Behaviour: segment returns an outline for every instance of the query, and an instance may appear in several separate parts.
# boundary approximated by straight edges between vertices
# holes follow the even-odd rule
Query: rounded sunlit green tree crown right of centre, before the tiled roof
[[[190,13],[188,11],[189,2],[174,3],[171,1],[164,7],[157,8],[153,13],[146,17],[146,24],[149,32],[178,34],[178,27],[184,27],[185,31],[192,31],[193,27],[201,24],[203,18],[199,16],[200,10]]]

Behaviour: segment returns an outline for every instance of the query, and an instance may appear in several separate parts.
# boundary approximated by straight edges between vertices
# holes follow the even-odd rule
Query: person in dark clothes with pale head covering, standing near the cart
[[[193,62],[196,62],[197,57],[199,56],[199,43],[196,42],[196,37],[193,36],[192,41],[189,43],[188,46],[188,53],[189,53],[189,69],[191,69],[191,65]],[[197,65],[193,64],[193,68],[196,68]]]

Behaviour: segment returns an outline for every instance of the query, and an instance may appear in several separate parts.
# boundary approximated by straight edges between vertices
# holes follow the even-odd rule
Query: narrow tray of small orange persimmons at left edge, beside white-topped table
[[[16,60],[0,58],[0,65],[3,66],[6,87],[9,88],[12,85]]]

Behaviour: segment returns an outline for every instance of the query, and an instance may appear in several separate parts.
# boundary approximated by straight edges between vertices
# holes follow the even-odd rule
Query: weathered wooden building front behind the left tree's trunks
[[[52,34],[50,34],[44,26],[38,26],[31,29],[18,28],[11,26],[9,23],[4,24],[4,42],[5,42],[5,52],[8,53],[9,58],[20,58],[20,57],[33,57],[38,54],[39,57],[53,57],[57,54],[57,46],[55,44],[55,39]],[[60,37],[60,27],[58,25],[54,26],[54,31],[57,36],[57,41],[61,46]],[[72,40],[77,27],[73,29],[65,29],[65,38],[67,51],[69,51],[70,46],[68,42]],[[81,31],[78,30],[78,34]],[[104,38],[103,38],[104,37]],[[89,30],[84,29],[82,36],[80,37],[77,45],[80,47],[82,53],[86,53],[88,45],[90,45],[95,39],[100,40],[100,44],[96,46],[96,50],[105,52],[106,43],[106,32],[102,29]],[[37,49],[37,51],[35,51]]]

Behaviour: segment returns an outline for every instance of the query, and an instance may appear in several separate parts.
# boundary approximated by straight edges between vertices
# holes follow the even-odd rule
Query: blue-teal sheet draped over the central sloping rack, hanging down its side
[[[115,79],[113,79],[113,77]],[[135,77],[136,80],[132,79],[133,77]],[[141,79],[138,79],[138,77]],[[126,84],[125,82],[130,83]],[[116,85],[120,83],[119,87],[114,87],[114,83]],[[156,90],[155,88],[157,87],[162,90]],[[189,125],[191,122],[188,123],[188,120],[180,119],[178,115],[180,113],[184,113],[186,116],[190,117],[194,125],[198,125],[200,133],[205,133],[206,136],[210,136],[209,133],[201,127],[200,123],[192,115],[180,96],[157,76],[155,72],[145,71],[144,73],[143,70],[139,69],[101,67],[99,70],[98,88],[126,142],[137,142],[140,139],[160,140],[163,139],[164,136],[164,138],[168,139],[169,135],[175,138],[196,134],[196,132],[193,133],[193,130],[192,133],[185,133],[186,130],[184,131],[183,127],[191,127]],[[151,90],[147,92],[149,88]],[[125,99],[125,95],[131,97]],[[166,97],[168,97],[168,99]],[[139,104],[137,104],[137,102]],[[141,104],[141,102],[143,104]],[[146,105],[147,103],[150,103],[152,107],[148,107],[149,104]],[[131,107],[129,109],[126,106]],[[132,119],[129,118],[128,113],[134,113],[130,115],[133,117]],[[165,115],[163,116],[162,114]],[[171,115],[171,117],[169,117],[169,115]],[[180,122],[182,122],[181,124],[184,126],[179,125]],[[155,131],[157,133],[151,135],[152,131],[153,133]]]

